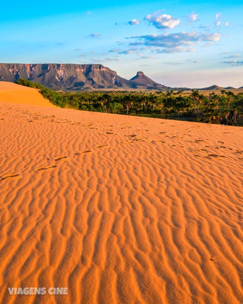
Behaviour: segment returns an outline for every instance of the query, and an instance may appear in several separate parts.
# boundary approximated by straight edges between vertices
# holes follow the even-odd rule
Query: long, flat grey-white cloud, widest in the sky
[[[222,34],[219,33],[196,33],[196,32],[180,32],[180,33],[165,33],[152,34],[144,36],[132,36],[130,39],[135,39],[130,45],[144,45],[150,47],[162,48],[155,49],[157,53],[176,53],[176,52],[195,52],[194,45],[203,42],[214,42],[220,40]],[[153,51],[153,50],[152,50]]]

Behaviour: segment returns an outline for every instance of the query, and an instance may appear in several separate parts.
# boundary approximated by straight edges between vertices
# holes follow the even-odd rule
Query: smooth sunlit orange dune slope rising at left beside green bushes
[[[43,98],[36,89],[5,81],[0,81],[0,102],[55,107],[49,100]]]

